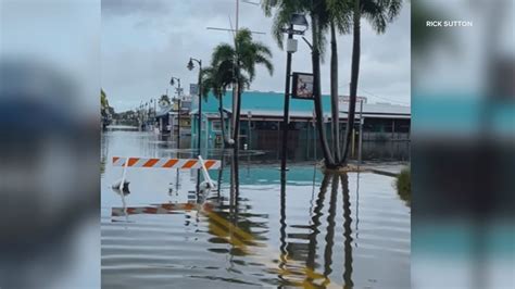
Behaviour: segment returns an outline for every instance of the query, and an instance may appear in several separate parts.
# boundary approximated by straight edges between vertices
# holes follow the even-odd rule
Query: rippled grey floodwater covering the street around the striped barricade
[[[281,179],[278,162],[260,162],[267,153],[225,156],[222,175],[210,171],[219,190],[205,194],[197,171],[162,168],[129,168],[121,194],[112,156],[193,152],[153,133],[104,133],[102,288],[410,288],[411,211],[393,178],[324,176],[303,161]]]

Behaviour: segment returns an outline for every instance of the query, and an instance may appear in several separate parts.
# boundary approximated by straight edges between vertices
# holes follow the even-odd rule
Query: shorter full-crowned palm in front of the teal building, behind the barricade
[[[241,93],[255,78],[255,66],[262,64],[272,75],[274,66],[271,62],[272,51],[265,45],[254,41],[252,33],[242,28],[238,30],[234,39],[234,46],[222,43],[215,47],[211,60],[211,66],[217,67],[217,74],[231,76],[231,85],[236,87],[236,112],[233,112],[233,139],[235,148],[238,149],[239,118],[241,113]]]

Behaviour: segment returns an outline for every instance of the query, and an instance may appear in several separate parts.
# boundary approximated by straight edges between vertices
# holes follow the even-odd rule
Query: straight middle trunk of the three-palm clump
[[[341,162],[340,155],[340,108],[338,105],[338,48],[336,42],[335,23],[330,23],[330,100],[332,121],[332,150],[335,161]]]

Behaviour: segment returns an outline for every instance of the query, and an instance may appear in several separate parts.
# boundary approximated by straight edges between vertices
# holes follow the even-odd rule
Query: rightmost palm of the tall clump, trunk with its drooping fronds
[[[350,0],[353,2],[353,40],[352,40],[352,64],[351,64],[351,85],[349,91],[349,113],[346,127],[346,139],[342,153],[342,163],[347,163],[349,154],[349,144],[352,139],[354,127],[357,80],[360,75],[360,55],[361,55],[361,18],[369,22],[377,34],[386,30],[387,24],[391,23],[400,13],[402,0]]]

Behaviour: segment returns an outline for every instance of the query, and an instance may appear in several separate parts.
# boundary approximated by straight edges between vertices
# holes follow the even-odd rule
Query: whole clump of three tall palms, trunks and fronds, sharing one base
[[[314,98],[316,123],[319,141],[323,148],[325,165],[328,168],[341,167],[347,164],[347,155],[352,127],[355,116],[355,99],[357,91],[357,76],[360,68],[360,22],[365,17],[370,22],[377,33],[384,33],[388,22],[391,22],[400,12],[402,0],[264,0],[263,9],[267,16],[274,14],[273,34],[282,47],[282,30],[289,23],[289,16],[293,12],[309,13],[312,28],[312,65],[314,76]],[[343,152],[340,152],[339,136],[339,108],[338,108],[338,49],[337,32],[349,33],[353,26],[353,55],[351,68],[351,91],[349,103],[349,121],[346,127],[346,138]],[[322,93],[321,93],[321,60],[325,51],[325,35],[330,32],[330,96],[331,96],[331,153],[327,142],[326,133],[323,125]]]

